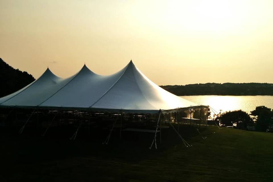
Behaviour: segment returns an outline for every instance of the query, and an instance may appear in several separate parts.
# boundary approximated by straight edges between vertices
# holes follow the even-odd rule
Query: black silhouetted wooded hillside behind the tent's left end
[[[27,86],[35,79],[26,71],[14,69],[0,58],[0,97],[9,95]]]

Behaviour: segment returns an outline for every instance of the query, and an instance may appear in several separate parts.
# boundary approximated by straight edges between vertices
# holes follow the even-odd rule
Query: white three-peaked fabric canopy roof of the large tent
[[[112,75],[98,75],[84,65],[75,75],[60,78],[47,68],[31,84],[0,98],[0,106],[88,108],[97,111],[122,109],[132,113],[200,107],[153,83],[132,61]]]

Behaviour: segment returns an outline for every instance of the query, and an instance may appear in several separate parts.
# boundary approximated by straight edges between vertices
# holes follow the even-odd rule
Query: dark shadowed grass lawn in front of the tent
[[[152,135],[142,133],[119,140],[116,131],[109,146],[101,144],[106,133],[74,142],[2,134],[0,181],[273,181],[273,133],[213,126],[203,128],[206,140],[183,133],[193,147],[171,128],[158,150],[148,150]]]

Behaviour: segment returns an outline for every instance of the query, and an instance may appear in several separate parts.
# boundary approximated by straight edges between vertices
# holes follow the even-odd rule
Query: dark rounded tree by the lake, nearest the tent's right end
[[[233,126],[236,124],[239,129],[246,129],[247,124],[253,123],[253,119],[250,115],[242,110],[226,111],[221,116],[217,116],[216,120],[226,126]]]

